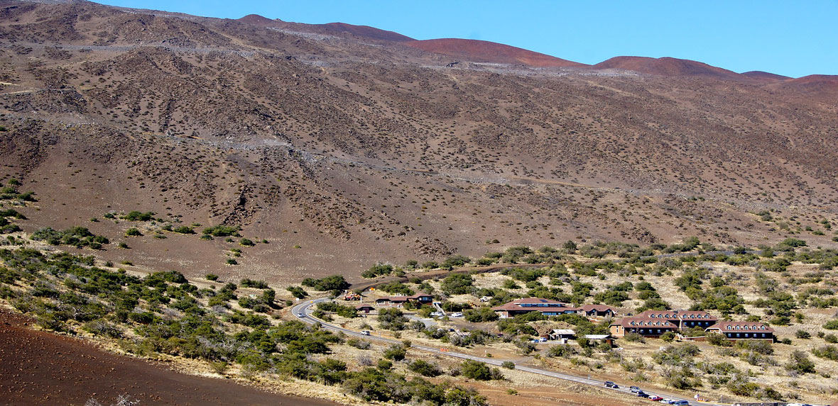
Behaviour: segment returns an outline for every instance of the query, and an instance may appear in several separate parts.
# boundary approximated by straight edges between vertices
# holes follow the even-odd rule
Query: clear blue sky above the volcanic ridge
[[[205,17],[350,23],[416,39],[471,38],[581,63],[674,57],[736,72],[838,74],[838,0],[105,0]]]

